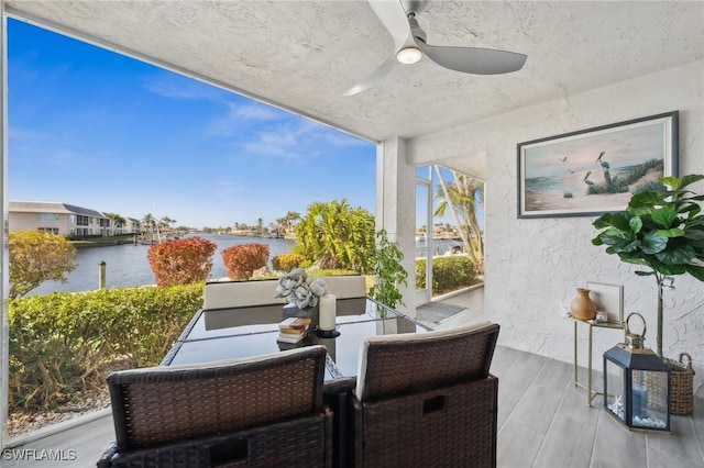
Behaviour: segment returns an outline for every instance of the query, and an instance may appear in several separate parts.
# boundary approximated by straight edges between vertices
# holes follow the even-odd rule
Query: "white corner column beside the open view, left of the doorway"
[[[386,230],[398,243],[408,272],[399,288],[404,305],[397,309],[416,316],[416,169],[407,163],[406,140],[391,137],[376,145],[376,230]]]

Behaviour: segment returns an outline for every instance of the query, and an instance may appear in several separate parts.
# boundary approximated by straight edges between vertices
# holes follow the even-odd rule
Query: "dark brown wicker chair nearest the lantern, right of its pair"
[[[355,466],[496,466],[498,330],[367,338],[352,398]]]

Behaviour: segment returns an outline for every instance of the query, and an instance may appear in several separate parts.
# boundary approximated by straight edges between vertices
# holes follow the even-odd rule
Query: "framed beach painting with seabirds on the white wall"
[[[518,144],[518,218],[591,216],[678,176],[678,111]]]

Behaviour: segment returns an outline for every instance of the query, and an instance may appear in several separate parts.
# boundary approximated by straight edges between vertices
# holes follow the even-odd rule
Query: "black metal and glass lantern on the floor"
[[[630,333],[638,315],[642,335]],[[670,432],[670,367],[644,347],[646,321],[626,319],[626,343],[604,353],[604,409],[628,428]]]

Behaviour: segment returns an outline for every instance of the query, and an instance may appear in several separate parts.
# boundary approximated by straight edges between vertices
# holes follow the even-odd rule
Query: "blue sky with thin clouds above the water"
[[[12,201],[193,227],[314,201],[374,213],[372,143],[15,20],[8,47]]]

